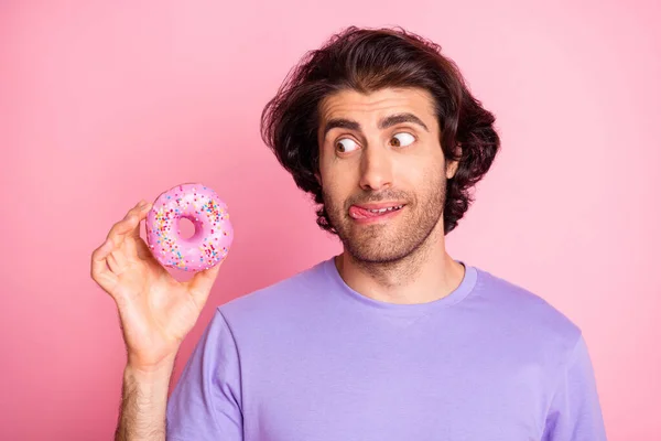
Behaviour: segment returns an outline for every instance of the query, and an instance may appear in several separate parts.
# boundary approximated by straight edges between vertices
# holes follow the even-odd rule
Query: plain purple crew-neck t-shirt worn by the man
[[[606,440],[579,329],[465,266],[429,303],[367,298],[333,259],[225,303],[170,397],[167,440]]]

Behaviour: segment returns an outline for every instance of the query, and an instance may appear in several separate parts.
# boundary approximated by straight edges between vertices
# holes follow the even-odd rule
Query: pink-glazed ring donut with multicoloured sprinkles
[[[195,226],[189,238],[180,222]],[[163,192],[147,215],[147,244],[154,258],[167,268],[202,271],[227,257],[234,240],[227,205],[208,186],[185,183]]]

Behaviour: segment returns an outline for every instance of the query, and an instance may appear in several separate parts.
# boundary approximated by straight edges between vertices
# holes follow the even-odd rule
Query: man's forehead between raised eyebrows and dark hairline
[[[370,123],[399,112],[411,112],[431,128],[435,121],[432,95],[422,88],[384,88],[362,94],[354,89],[339,90],[319,103],[319,118],[347,118]]]

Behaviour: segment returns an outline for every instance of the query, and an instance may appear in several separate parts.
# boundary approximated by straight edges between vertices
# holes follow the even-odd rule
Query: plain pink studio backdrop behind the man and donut
[[[111,438],[123,342],[89,255],[141,197],[204,182],[236,229],[175,379],[215,305],[340,250],[262,144],[260,111],[333,32],[401,24],[442,44],[502,136],[451,254],[575,321],[609,439],[658,440],[653,3],[3,1],[0,439]]]

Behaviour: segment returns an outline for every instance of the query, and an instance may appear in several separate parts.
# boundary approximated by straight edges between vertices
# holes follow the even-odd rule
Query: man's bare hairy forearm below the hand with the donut
[[[174,362],[155,370],[128,365],[115,441],[165,441],[167,390]]]

